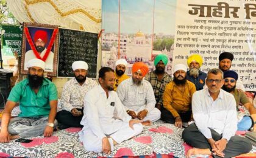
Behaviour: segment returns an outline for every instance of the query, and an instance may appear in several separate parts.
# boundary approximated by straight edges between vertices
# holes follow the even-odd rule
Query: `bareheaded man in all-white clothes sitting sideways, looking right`
[[[84,126],[79,138],[85,149],[96,153],[110,154],[116,143],[130,139],[143,129],[140,120],[132,120],[113,91],[114,70],[102,67],[99,70],[99,86],[85,95]]]

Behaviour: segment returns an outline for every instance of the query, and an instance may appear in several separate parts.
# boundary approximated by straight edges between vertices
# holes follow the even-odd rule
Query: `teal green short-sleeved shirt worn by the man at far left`
[[[8,100],[20,102],[19,117],[46,117],[51,109],[49,101],[58,100],[57,88],[54,83],[44,78],[43,84],[35,94],[26,78],[12,88]]]

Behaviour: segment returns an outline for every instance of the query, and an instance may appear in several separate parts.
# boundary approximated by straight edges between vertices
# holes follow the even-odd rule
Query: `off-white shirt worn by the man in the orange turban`
[[[133,84],[132,78],[124,80],[117,89],[118,97],[126,106],[126,110],[137,111],[141,106],[146,105],[150,112],[155,108],[154,91],[149,81],[142,80],[141,84]]]

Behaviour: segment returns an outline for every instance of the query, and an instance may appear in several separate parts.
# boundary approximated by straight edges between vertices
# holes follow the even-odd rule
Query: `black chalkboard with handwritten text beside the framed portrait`
[[[74,77],[72,63],[82,60],[88,64],[87,77],[96,78],[98,34],[59,29],[58,77]]]

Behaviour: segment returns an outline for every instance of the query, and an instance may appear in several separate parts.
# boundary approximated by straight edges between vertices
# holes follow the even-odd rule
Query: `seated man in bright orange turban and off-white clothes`
[[[161,112],[155,108],[155,96],[151,84],[143,79],[147,73],[148,66],[143,62],[133,64],[132,78],[119,84],[117,94],[126,106],[127,114],[133,119],[155,122],[160,119]]]

